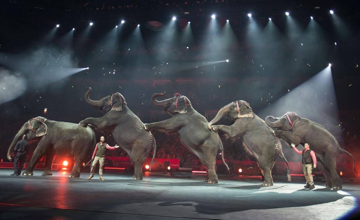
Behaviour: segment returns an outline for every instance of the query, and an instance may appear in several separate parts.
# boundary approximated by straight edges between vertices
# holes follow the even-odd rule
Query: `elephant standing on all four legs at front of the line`
[[[51,176],[51,164],[55,154],[60,157],[72,157],[75,164],[69,177],[80,177],[81,163],[90,154],[96,144],[95,133],[91,128],[82,128],[78,124],[57,122],[38,116],[28,120],[15,135],[8,149],[11,160],[12,150],[21,137],[26,134],[28,140],[36,140],[37,146],[31,157],[24,176],[32,176],[35,165],[45,157],[43,176]]]

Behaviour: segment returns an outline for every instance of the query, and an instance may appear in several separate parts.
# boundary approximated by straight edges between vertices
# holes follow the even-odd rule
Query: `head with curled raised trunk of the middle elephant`
[[[191,102],[186,96],[181,96],[179,93],[175,93],[172,98],[168,98],[163,101],[156,100],[156,97],[165,96],[165,94],[166,92],[153,94],[151,97],[152,104],[157,107],[164,108],[164,111],[167,111],[171,115],[175,115],[176,113],[188,113],[188,106],[191,105]]]

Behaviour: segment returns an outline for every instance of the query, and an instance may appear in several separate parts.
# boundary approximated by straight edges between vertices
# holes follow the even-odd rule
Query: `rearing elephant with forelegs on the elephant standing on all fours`
[[[156,142],[151,132],[144,129],[144,124],[130,109],[122,94],[116,92],[105,96],[98,101],[89,98],[91,88],[85,94],[88,104],[99,107],[105,112],[100,118],[86,118],[79,125],[97,128],[100,131],[111,132],[117,144],[129,154],[132,164],[134,164],[133,180],[143,179],[143,164],[150,151],[154,149],[153,159],[156,154]],[[151,170],[150,164],[150,170]]]

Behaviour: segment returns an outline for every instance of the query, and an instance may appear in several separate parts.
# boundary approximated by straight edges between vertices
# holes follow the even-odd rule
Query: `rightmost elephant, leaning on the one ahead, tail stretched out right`
[[[270,122],[270,119],[275,122]],[[326,178],[326,187],[341,189],[341,180],[336,172],[336,159],[338,153],[346,153],[354,160],[355,158],[346,150],[339,147],[335,137],[332,136],[323,126],[312,122],[306,118],[300,118],[294,112],[287,112],[279,118],[269,115],[265,118],[265,122],[271,128],[277,128],[274,131],[276,137],[284,139],[287,144],[304,145],[308,143],[310,149],[315,152],[316,160],[320,170]],[[289,132],[290,131],[290,132]]]

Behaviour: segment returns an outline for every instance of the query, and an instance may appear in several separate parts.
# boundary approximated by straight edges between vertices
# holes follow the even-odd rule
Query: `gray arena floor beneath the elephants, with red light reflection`
[[[262,186],[260,176],[219,175],[208,184],[205,175],[104,171],[87,180],[53,176],[10,176],[0,169],[0,219],[355,219],[359,214],[360,180],[344,179],[343,189],[303,187],[304,177],[274,176]],[[95,173],[96,174],[96,173]]]

